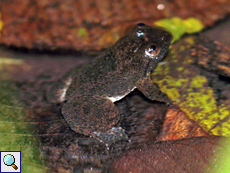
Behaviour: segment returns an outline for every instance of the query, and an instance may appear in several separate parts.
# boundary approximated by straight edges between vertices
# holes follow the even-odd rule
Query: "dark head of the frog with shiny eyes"
[[[171,40],[172,34],[163,28],[139,23],[115,45],[121,49],[122,59],[139,65],[139,72],[147,75],[164,58]]]

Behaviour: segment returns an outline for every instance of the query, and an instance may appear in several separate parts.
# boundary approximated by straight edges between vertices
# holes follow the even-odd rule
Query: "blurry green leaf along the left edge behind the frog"
[[[14,62],[13,59],[1,58],[1,73],[7,74],[6,66],[10,64],[22,63],[20,60]],[[0,150],[21,151],[22,172],[46,172],[44,156],[35,130],[37,122],[29,119],[20,101],[20,91],[15,83],[5,76],[10,75],[0,75]]]

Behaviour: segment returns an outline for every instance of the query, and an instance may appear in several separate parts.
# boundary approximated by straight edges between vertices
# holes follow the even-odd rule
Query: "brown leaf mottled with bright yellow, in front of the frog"
[[[187,37],[173,45],[167,63],[159,64],[152,74],[153,81],[173,104],[206,132],[229,137],[230,104],[225,101],[217,105],[214,91],[208,86],[208,79],[194,66],[195,59],[190,55],[193,44],[195,37]]]

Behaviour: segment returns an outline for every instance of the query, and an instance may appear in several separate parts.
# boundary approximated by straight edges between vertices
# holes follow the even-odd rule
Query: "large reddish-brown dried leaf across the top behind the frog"
[[[133,23],[178,16],[196,17],[207,26],[230,12],[229,0],[2,0],[0,6],[0,43],[36,49],[98,50]]]

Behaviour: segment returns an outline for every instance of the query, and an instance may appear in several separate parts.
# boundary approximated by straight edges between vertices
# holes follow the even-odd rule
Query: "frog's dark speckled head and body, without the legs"
[[[58,101],[82,95],[122,95],[146,78],[166,54],[172,35],[162,28],[138,24],[102,55],[55,84]]]

